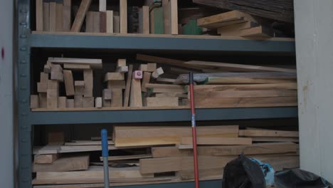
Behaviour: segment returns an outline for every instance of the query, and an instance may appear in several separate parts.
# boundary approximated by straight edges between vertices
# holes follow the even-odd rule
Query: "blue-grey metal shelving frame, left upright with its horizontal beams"
[[[177,110],[112,110],[81,112],[31,112],[31,48],[80,48],[160,51],[203,51],[294,54],[294,41],[249,41],[230,39],[171,38],[167,36],[91,36],[31,33],[30,0],[20,0],[18,19],[18,187],[31,187],[31,127],[33,125],[186,121],[190,113]],[[297,117],[297,108],[218,108],[197,110],[198,120],[239,120]],[[129,115],[131,118],[128,118]],[[129,187],[193,187],[193,182]],[[201,187],[221,187],[221,180],[201,182]]]

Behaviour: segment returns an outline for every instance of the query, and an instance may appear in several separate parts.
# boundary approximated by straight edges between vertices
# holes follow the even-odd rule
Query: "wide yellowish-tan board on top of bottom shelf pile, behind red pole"
[[[238,137],[238,125],[197,127],[199,137],[225,136]],[[174,145],[181,137],[192,135],[191,127],[120,127],[115,126],[116,147]]]

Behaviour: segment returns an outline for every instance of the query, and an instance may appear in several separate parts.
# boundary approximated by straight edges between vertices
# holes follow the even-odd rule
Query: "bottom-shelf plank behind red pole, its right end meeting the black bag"
[[[208,157],[199,156],[199,169],[223,168],[228,162],[236,159],[235,157]],[[140,160],[140,172],[158,173],[175,172],[181,170],[193,170],[193,157],[166,157]]]

